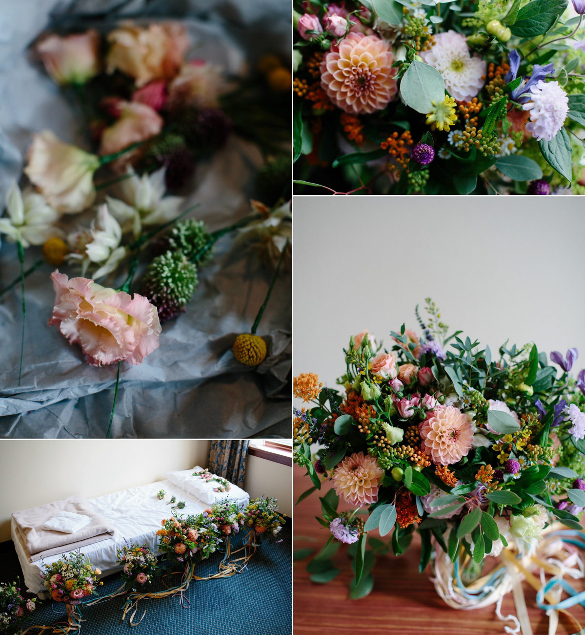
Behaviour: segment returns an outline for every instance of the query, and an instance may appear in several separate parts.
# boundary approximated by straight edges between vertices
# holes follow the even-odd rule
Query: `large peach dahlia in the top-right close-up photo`
[[[350,114],[386,107],[398,91],[390,44],[378,36],[350,33],[320,65],[321,86],[331,102]]]

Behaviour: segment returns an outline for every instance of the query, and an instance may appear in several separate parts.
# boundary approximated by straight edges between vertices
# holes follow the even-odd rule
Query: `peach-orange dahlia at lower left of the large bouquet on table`
[[[378,500],[378,488],[384,472],[376,459],[363,452],[345,457],[332,476],[335,493],[350,505],[370,505]]]

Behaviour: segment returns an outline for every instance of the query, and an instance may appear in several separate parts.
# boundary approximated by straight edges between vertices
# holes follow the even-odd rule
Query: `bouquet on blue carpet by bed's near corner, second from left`
[[[75,606],[81,604],[84,598],[97,593],[96,587],[103,584],[98,577],[101,574],[78,549],[61,556],[51,565],[44,565],[41,578],[51,598],[56,602]]]

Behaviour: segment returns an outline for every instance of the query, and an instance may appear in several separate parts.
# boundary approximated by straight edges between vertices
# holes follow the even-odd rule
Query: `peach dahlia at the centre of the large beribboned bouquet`
[[[457,463],[471,449],[473,425],[454,406],[438,406],[419,424],[421,449],[436,465]]]

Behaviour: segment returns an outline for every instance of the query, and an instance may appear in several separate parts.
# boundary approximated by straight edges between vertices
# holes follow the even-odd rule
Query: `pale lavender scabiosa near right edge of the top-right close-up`
[[[524,110],[530,110],[530,122],[526,130],[537,141],[550,141],[563,127],[569,112],[569,97],[556,81],[538,83],[530,86],[532,102],[524,104]]]

